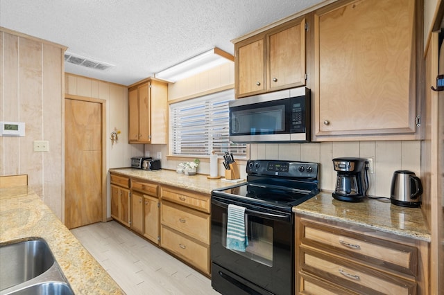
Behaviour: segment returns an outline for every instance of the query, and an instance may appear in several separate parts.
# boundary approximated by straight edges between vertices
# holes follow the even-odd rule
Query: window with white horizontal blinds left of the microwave
[[[228,139],[228,102],[234,89],[170,105],[170,146],[173,155],[207,156],[232,152],[246,157],[246,144]]]

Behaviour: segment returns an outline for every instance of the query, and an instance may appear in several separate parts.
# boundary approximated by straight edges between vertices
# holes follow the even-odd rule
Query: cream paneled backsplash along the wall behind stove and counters
[[[167,161],[167,145],[146,145],[151,155],[162,152],[162,168],[175,170],[180,161]],[[373,158],[373,173],[369,174],[368,195],[390,197],[391,177],[395,170],[411,170],[420,177],[420,141],[348,141],[323,143],[257,143],[250,144],[250,159],[278,159],[321,163],[321,190],[334,190],[336,172],[332,159],[337,157]],[[241,165],[245,178],[245,164]],[[198,170],[210,174],[210,165],[202,162]],[[223,167],[219,165],[219,175]]]

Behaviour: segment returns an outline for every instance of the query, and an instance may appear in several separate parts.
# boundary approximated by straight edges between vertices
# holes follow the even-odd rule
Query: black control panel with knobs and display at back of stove
[[[318,163],[280,160],[249,160],[247,175],[271,175],[316,179]]]

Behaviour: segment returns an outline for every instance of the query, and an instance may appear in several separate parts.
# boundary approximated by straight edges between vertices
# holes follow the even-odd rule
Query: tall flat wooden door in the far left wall
[[[102,104],[65,99],[65,225],[103,218]]]

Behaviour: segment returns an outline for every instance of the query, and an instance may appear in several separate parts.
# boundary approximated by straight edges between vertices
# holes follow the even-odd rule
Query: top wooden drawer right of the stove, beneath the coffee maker
[[[339,256],[362,260],[368,266],[418,274],[418,249],[404,244],[361,235],[343,229],[325,227],[321,224],[301,220],[303,224],[302,244],[325,248]]]

